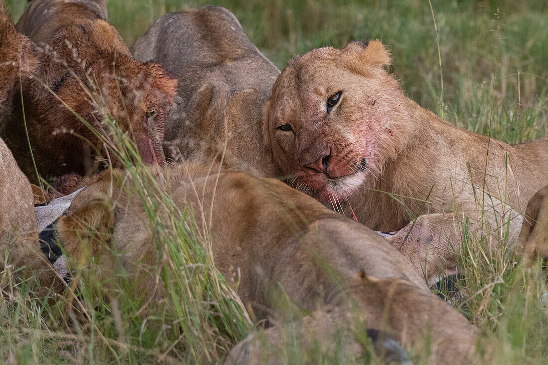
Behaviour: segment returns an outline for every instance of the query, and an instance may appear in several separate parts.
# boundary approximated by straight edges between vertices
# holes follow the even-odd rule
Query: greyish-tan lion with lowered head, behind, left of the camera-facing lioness
[[[179,79],[165,126],[165,156],[277,175],[262,143],[262,108],[279,70],[229,10],[207,5],[158,19],[132,47]]]

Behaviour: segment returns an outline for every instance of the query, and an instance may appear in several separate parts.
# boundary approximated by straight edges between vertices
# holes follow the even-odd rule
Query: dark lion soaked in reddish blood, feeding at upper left
[[[132,138],[144,162],[163,163],[177,81],[160,65],[133,59],[106,21],[104,0],[35,0],[16,29],[40,47],[39,65],[0,125],[31,182],[38,181],[36,170],[90,175],[100,157],[121,166],[125,146],[116,128]]]

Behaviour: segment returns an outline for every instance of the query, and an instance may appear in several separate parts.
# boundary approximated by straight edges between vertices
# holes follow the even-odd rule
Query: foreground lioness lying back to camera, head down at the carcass
[[[350,297],[365,328],[384,330],[405,346],[431,335],[432,363],[471,361],[475,327],[430,293],[408,260],[383,238],[282,182],[208,171],[184,165],[153,176],[176,214],[190,211],[198,240],[210,243],[215,266],[255,313],[264,316],[260,313],[269,308],[273,315],[281,285],[284,296],[315,311],[319,329],[321,323],[349,321],[345,298]],[[164,285],[153,267],[162,255],[128,178],[106,173],[81,190],[57,229],[76,267],[85,270],[87,259],[94,260],[104,285],[122,267],[135,278],[138,293],[157,300]],[[162,220],[165,214],[159,209],[155,216]]]

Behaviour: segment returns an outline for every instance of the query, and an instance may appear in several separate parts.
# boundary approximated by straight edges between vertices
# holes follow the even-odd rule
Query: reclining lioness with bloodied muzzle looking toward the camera
[[[463,215],[471,235],[508,227],[515,242],[518,214],[548,183],[548,139],[509,145],[455,127],[407,98],[390,62],[380,41],[289,61],[265,108],[278,168],[370,228],[401,229],[393,245],[427,277],[454,269]]]

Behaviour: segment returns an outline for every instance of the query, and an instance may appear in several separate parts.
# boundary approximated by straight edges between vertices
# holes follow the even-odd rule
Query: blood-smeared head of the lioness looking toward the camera
[[[265,107],[265,139],[294,187],[323,202],[374,183],[404,128],[379,41],[319,48],[290,61]],[[267,109],[266,109],[267,108]]]

